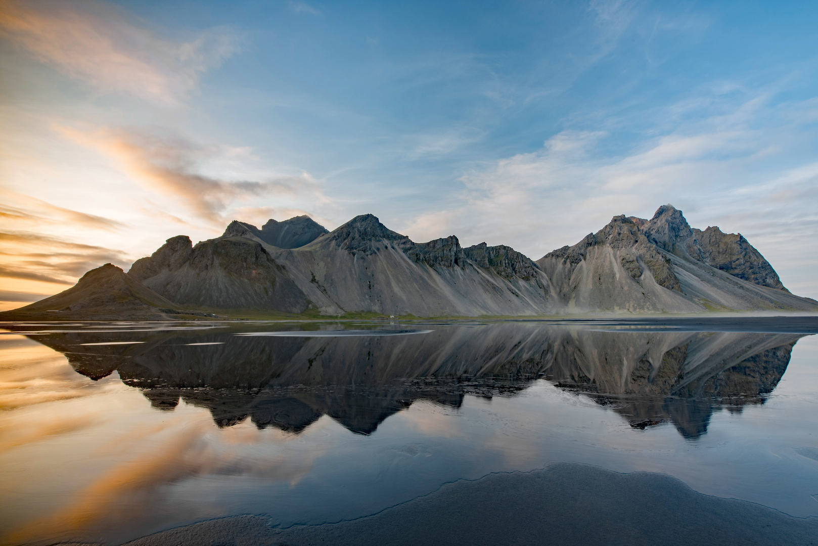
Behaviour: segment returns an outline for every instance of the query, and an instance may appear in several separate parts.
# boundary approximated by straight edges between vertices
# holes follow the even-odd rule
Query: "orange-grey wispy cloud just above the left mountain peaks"
[[[218,156],[235,156],[236,148],[203,146],[166,131],[58,128],[65,137],[114,158],[134,179],[162,196],[182,202],[200,219],[221,225],[222,214],[234,201],[261,196],[293,198],[309,192],[326,201],[317,181],[307,173],[275,175],[263,181],[227,180],[202,174],[204,165]],[[245,153],[245,152],[243,152]]]

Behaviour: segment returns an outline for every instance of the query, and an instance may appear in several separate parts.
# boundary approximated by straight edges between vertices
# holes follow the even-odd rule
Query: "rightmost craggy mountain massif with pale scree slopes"
[[[537,261],[569,312],[818,311],[793,296],[744,237],[690,228],[681,210],[614,216],[599,232]]]

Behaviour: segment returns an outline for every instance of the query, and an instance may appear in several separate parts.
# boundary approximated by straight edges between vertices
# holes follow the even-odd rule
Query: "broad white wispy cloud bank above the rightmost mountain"
[[[799,129],[781,120],[754,129],[753,120],[771,111],[761,93],[620,156],[605,154],[609,133],[565,130],[539,151],[470,170],[445,208],[412,219],[403,232],[416,240],[456,233],[465,244],[510,244],[538,259],[614,214],[649,216],[670,202],[694,227],[743,232],[786,274],[803,256],[818,255],[818,167],[780,169],[781,150],[798,142]],[[808,261],[818,267],[818,259]]]

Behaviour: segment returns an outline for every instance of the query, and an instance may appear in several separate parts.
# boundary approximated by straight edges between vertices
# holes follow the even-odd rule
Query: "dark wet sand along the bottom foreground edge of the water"
[[[166,530],[128,546],[416,544],[818,544],[818,518],[691,490],[663,474],[556,463],[456,481],[369,517],[285,530],[241,516]]]

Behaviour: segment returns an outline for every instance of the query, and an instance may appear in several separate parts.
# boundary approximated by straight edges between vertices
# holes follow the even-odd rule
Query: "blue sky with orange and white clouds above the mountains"
[[[666,203],[818,298],[816,29],[815,2],[0,0],[0,309],[232,219],[539,259]]]

